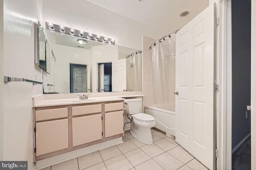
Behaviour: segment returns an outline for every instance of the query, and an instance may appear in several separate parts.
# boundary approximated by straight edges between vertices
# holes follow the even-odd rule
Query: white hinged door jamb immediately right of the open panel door
[[[210,0],[210,3],[216,2],[216,17],[218,17],[218,26],[216,29],[216,61],[215,61],[215,81],[218,84],[218,91],[215,92],[215,110],[216,110],[216,149],[218,156],[216,158],[216,169],[225,170],[228,168],[226,164],[231,156],[231,146],[227,145],[227,140],[231,135],[227,131],[228,117],[227,105],[227,58],[230,57],[230,42],[228,39],[231,35],[231,20],[228,23],[228,9],[227,5],[231,0]],[[231,12],[231,11],[230,11]],[[230,13],[231,14],[231,13]],[[231,17],[231,15],[230,15]],[[217,19],[215,20],[217,24]],[[230,33],[230,35],[229,35]],[[230,159],[231,160],[231,159]]]

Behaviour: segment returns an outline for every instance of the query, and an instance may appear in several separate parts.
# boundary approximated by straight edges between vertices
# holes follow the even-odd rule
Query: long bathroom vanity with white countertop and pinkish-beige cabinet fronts
[[[124,99],[42,101],[33,108],[34,162],[120,138]]]

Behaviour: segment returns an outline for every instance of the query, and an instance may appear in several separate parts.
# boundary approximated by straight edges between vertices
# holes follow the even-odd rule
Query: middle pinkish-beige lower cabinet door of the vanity
[[[102,139],[101,114],[72,118],[73,147]]]

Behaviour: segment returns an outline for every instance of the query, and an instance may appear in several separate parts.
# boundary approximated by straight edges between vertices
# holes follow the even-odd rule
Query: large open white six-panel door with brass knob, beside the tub
[[[214,7],[176,33],[176,142],[215,167]]]

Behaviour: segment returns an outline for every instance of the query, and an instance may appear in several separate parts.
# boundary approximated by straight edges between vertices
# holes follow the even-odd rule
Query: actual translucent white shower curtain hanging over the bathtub
[[[175,33],[152,47],[152,70],[156,105],[175,111]]]

